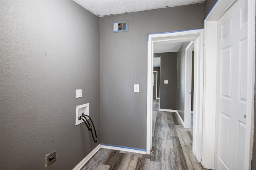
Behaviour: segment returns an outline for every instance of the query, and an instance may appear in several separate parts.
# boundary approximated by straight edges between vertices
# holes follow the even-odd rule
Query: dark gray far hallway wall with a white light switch
[[[159,108],[176,110],[177,52],[154,53],[154,56],[161,56]]]

